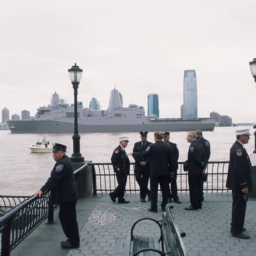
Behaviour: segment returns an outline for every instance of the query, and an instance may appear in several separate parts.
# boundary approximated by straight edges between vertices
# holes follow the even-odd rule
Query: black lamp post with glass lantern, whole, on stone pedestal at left
[[[80,135],[78,134],[78,122],[77,122],[77,89],[82,78],[83,69],[76,66],[72,66],[68,69],[69,78],[74,88],[74,135],[73,139],[73,154],[70,157],[71,162],[84,162],[85,158],[80,153]]]

